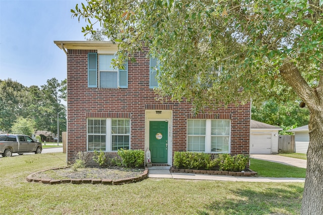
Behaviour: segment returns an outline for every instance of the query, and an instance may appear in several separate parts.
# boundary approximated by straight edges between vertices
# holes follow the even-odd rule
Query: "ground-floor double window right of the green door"
[[[187,151],[230,153],[230,120],[188,120]]]

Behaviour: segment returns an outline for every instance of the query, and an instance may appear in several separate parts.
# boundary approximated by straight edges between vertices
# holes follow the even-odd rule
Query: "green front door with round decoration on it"
[[[149,122],[149,150],[152,163],[167,163],[168,122]]]

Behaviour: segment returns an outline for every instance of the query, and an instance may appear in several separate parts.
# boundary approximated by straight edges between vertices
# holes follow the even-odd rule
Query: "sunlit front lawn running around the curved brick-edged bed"
[[[0,214],[299,214],[301,206],[304,183],[148,178],[111,186],[26,181],[33,172],[66,166],[65,159],[62,153],[0,157]]]

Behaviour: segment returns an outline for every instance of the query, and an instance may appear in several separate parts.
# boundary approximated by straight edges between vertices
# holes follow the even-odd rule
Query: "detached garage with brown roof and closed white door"
[[[280,127],[250,120],[250,154],[278,154]]]

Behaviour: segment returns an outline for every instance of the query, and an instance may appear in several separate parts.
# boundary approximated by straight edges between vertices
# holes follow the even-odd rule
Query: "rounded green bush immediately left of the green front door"
[[[138,168],[144,165],[145,153],[142,150],[118,150],[122,165],[127,168]]]

